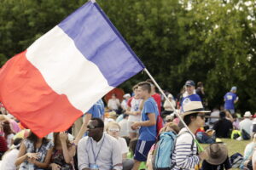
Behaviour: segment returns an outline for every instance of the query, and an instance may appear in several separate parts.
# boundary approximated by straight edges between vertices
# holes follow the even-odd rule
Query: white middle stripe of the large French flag
[[[113,89],[59,26],[27,48],[26,58],[38,68],[50,88],[57,94],[66,94],[80,111],[88,111],[97,99]]]

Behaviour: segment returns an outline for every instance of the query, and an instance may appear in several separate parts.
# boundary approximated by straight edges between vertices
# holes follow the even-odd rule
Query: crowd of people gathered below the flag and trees
[[[147,80],[122,101],[112,94],[105,106],[100,99],[66,132],[44,138],[1,104],[0,169],[231,169],[234,156],[223,138],[248,140],[239,167],[253,169],[256,121],[250,111],[236,114],[236,90],[224,95],[224,107],[206,111],[202,82],[185,82],[176,98],[166,92],[167,100]],[[209,145],[201,150],[199,143]]]

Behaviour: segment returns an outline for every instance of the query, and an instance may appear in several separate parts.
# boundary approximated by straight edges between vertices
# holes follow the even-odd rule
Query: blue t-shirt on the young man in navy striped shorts
[[[142,122],[149,120],[148,113],[154,113],[155,120],[157,120],[157,116],[159,115],[158,108],[154,98],[152,97],[148,98],[143,105]],[[154,141],[156,138],[156,125],[150,127],[141,127],[139,134],[140,140]]]

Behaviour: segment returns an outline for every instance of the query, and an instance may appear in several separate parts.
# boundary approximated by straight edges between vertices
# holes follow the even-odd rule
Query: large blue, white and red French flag
[[[88,2],[3,65],[0,101],[44,137],[66,130],[143,69],[102,9]]]

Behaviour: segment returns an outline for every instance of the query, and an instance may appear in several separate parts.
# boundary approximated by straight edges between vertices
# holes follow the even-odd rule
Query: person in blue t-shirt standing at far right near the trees
[[[238,101],[238,96],[236,95],[236,86],[233,86],[227,94],[224,95],[224,109],[230,111],[231,114],[235,114],[235,104]]]

